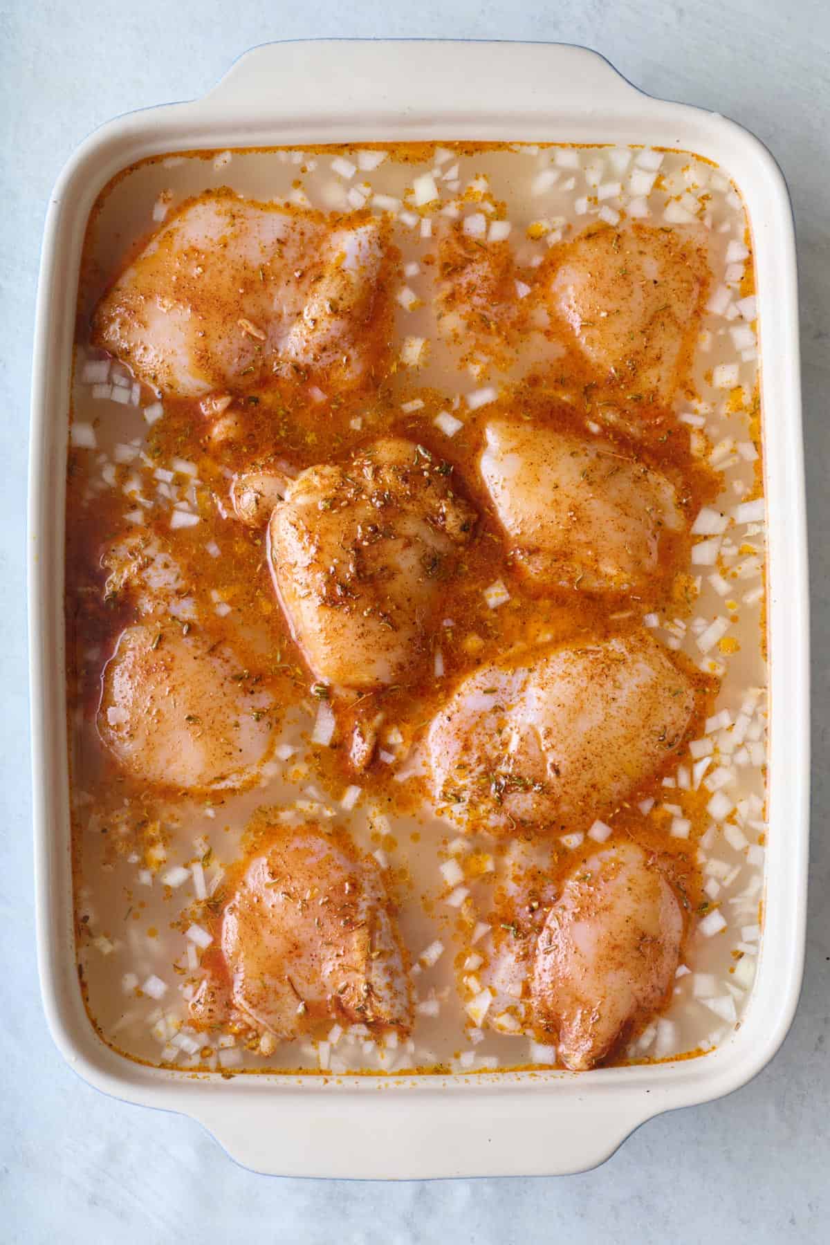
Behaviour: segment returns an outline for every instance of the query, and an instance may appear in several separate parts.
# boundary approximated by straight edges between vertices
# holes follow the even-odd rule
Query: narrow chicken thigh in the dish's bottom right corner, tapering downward
[[[556,1035],[566,1067],[592,1068],[660,1008],[682,936],[672,886],[635,843],[575,869],[536,941],[531,982],[535,1023]]]

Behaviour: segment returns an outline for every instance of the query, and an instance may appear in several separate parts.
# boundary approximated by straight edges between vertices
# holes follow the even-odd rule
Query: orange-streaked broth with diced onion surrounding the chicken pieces
[[[575,351],[551,346],[541,321],[535,325],[536,334],[529,324],[526,350],[520,349],[518,359],[501,350],[498,324],[494,331],[484,322],[480,337],[475,326],[468,325],[463,350],[442,339],[433,300],[441,266],[439,234],[474,213],[484,212],[485,228],[492,219],[509,220],[505,247],[513,249],[516,278],[526,288],[560,240],[600,222],[613,227],[615,218],[642,210],[643,203],[650,225],[666,224],[682,232],[689,222],[702,222],[712,278],[689,390],[678,392],[673,412],[640,412],[643,432],[638,449],[646,461],[683,479],[692,498],[689,514],[702,504],[729,514],[744,499],[759,496],[754,316],[750,304],[742,301],[754,288],[750,240],[740,199],[727,177],[688,153],[666,152],[660,159],[657,153],[637,148],[419,144],[383,151],[380,167],[357,169],[351,178],[331,168],[338,156],[362,163],[350,148],[158,158],[116,179],[91,218],[78,298],[72,400],[76,432],[70,446],[67,497],[67,705],[77,956],[87,1008],[98,1032],[122,1053],[153,1064],[225,1072],[408,1072],[438,1067],[475,1072],[551,1061],[553,1052],[526,1035],[477,1026],[470,1033],[464,1005],[475,992],[477,980],[470,982],[464,964],[470,954],[480,955],[478,976],[485,979],[494,942],[504,939],[498,909],[515,868],[516,848],[509,839],[459,838],[452,820],[436,815],[423,802],[419,728],[457,680],[483,661],[519,645],[625,629],[642,619],[643,606],[625,599],[609,608],[590,600],[575,604],[569,598],[540,598],[511,574],[475,466],[484,423],[516,408],[540,425],[557,427],[586,418],[602,421],[605,413],[594,405],[591,370]],[[657,161],[652,189],[633,194],[633,189],[642,189],[650,171],[642,166]],[[431,169],[441,202],[414,209],[411,200],[403,202],[404,193],[413,178]],[[630,181],[637,171],[640,187]],[[615,183],[620,183],[618,190]],[[83,382],[85,365],[102,359],[88,347],[91,312],[126,258],[158,228],[166,209],[174,210],[192,194],[229,186],[255,199],[290,203],[305,202],[304,195],[314,208],[346,213],[358,205],[355,192],[362,195],[360,188],[366,184],[371,190],[365,209],[391,209],[392,238],[399,251],[391,293],[409,290],[416,296],[404,293],[393,301],[393,366],[378,381],[333,400],[311,392],[311,386],[251,391],[243,400],[245,444],[219,449],[208,442],[198,402],[164,398],[164,413],[159,415],[158,397],[136,385],[117,364],[103,387]],[[380,202],[373,202],[376,194]],[[417,269],[411,266],[414,264]],[[417,350],[412,340],[428,342],[428,354],[421,350],[417,367],[399,357],[402,352],[404,360],[407,352],[412,357]],[[718,372],[724,364],[738,365],[738,380],[728,387]],[[114,383],[116,377],[123,383]],[[489,386],[498,391],[495,398],[478,406]],[[129,393],[128,401],[118,400],[122,395],[113,398],[117,390]],[[422,405],[413,407],[418,401]],[[462,421],[452,437],[434,423],[441,412]],[[92,437],[86,432],[88,426]],[[223,505],[226,508],[230,476],[251,459],[277,453],[302,469],[342,459],[387,432],[409,437],[452,463],[459,491],[475,504],[482,519],[462,573],[447,586],[442,625],[426,655],[423,677],[412,688],[392,688],[377,700],[383,712],[383,758],[376,758],[368,773],[355,777],[342,736],[335,736],[331,748],[310,743],[320,702],[311,695],[312,679],[274,596],[264,532],[225,518]],[[190,471],[177,469],[174,459],[189,464]],[[159,481],[159,467],[173,471],[173,479]],[[198,514],[198,524],[172,529],[177,503]],[[202,798],[149,789],[121,772],[100,741],[96,711],[102,669],[122,629],[136,618],[128,596],[105,599],[107,569],[101,557],[114,540],[136,530],[154,534],[182,568],[193,625],[210,640],[233,642],[246,669],[282,707],[276,751],[253,789]],[[688,905],[689,935],[682,964],[691,971],[677,979],[661,1020],[620,1050],[617,1062],[713,1048],[739,1022],[758,951],[765,833],[763,522],[732,524],[712,565],[689,561],[691,544],[684,550],[684,574],[658,576],[646,625],[684,655],[706,693],[706,710],[689,732],[689,738],[698,741],[697,751],[689,753],[684,742],[638,791],[632,806],[606,818],[615,835],[631,834],[672,858],[672,876],[682,885]],[[494,583],[504,584],[509,594],[498,608],[490,608],[484,596]],[[724,634],[709,646],[704,627],[718,618],[724,620]],[[723,717],[718,721],[719,713]],[[713,748],[699,741],[709,741]],[[714,749],[708,777],[724,768],[729,774],[724,789],[737,806],[719,820],[707,812],[713,796],[704,786],[707,776],[701,781],[693,771],[707,748]],[[407,773],[413,777],[406,779]],[[352,786],[361,788],[358,794],[351,793],[356,794],[355,807],[343,808],[343,797],[347,806],[351,803],[346,793]],[[638,807],[650,799],[653,807]],[[280,1043],[265,1057],[250,1032],[225,1028],[203,1033],[189,1027],[188,998],[204,970],[202,951],[188,942],[184,930],[197,923],[212,933],[214,945],[205,952],[205,962],[215,956],[221,904],[228,898],[226,870],[243,853],[251,815],[265,807],[273,810],[275,824],[345,825],[358,848],[377,854],[398,904],[413,964],[418,1005],[411,1040],[394,1046],[382,1040],[376,1043],[361,1026],[352,1026],[342,1035],[335,1030],[333,1042],[321,1032],[314,1041]],[[691,822],[688,837],[672,834],[672,827],[679,829],[684,820]],[[555,880],[591,849],[596,844],[590,839],[571,845],[555,835],[529,849],[523,844],[519,855],[525,863],[529,857],[540,859]],[[468,894],[460,900],[458,886],[449,886],[439,872],[450,859],[464,875]],[[166,885],[162,879],[178,865],[190,870],[185,880]],[[198,899],[199,867],[204,900]],[[723,915],[725,928],[707,936],[712,925],[707,918],[714,910]],[[492,924],[494,933],[482,934],[479,923]],[[419,961],[421,952],[436,940],[443,944],[437,962],[429,962],[432,955],[428,962]],[[143,989],[152,977],[166,987],[161,997]]]

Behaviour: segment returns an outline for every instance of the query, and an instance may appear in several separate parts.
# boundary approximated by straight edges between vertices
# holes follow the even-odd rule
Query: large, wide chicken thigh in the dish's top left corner
[[[264,387],[275,374],[348,388],[385,349],[385,254],[378,219],[332,230],[316,213],[209,192],[182,204],[102,298],[92,340],[180,397]]]

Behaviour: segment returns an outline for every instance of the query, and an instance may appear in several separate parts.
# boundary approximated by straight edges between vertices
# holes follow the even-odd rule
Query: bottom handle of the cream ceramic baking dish
[[[236,1163],[269,1175],[569,1175],[604,1163],[661,1109],[651,1101],[656,1096],[645,1101],[642,1091],[631,1093],[616,1082],[590,1088],[528,1084],[518,1092],[515,1084],[473,1078],[429,1089],[423,1082],[378,1087],[365,1081],[357,1089],[297,1086],[277,1102],[265,1086],[250,1086],[253,1092],[240,1097],[231,1091],[224,1101],[214,1087],[218,1097],[193,1116]],[[445,1096],[453,1092],[458,1116],[447,1129]],[[403,1128],[389,1094],[407,1097]]]

